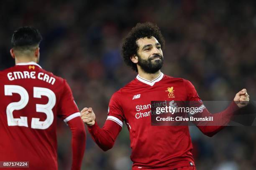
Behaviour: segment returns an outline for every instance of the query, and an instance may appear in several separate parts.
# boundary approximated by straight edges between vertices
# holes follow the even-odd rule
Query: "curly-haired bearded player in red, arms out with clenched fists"
[[[151,126],[151,101],[201,102],[191,82],[160,71],[163,47],[164,38],[156,25],[138,23],[125,38],[122,47],[124,61],[138,72],[137,77],[113,94],[103,128],[97,125],[91,107],[81,111],[81,118],[88,125],[93,140],[104,151],[113,147],[125,121],[130,133],[133,170],[195,170],[188,126]],[[237,104],[232,102],[226,110],[216,114],[217,118],[244,107],[247,105],[244,101],[248,100],[246,89],[241,90],[234,98]],[[202,108],[204,115],[211,115],[205,107]],[[197,127],[207,136],[223,128]]]

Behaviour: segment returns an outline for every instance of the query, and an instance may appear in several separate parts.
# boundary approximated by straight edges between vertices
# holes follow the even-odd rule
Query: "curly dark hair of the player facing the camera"
[[[161,44],[161,48],[164,48],[164,37],[161,34],[159,27],[153,23],[138,23],[135,27],[132,28],[131,32],[123,40],[122,45],[122,56],[124,62],[131,66],[133,70],[138,72],[137,65],[133,63],[130,59],[133,55],[137,55],[138,45],[137,40],[140,38],[151,38],[154,36],[156,40]]]

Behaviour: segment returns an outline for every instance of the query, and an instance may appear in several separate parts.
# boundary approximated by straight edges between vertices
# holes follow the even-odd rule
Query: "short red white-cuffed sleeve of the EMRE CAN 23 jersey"
[[[80,116],[79,109],[74,101],[72,91],[66,80],[64,80],[63,93],[59,101],[58,116],[61,117],[66,123],[69,120]]]

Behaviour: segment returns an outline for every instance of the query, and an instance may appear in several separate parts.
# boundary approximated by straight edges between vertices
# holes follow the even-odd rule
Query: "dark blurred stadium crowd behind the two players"
[[[10,37],[40,30],[39,64],[64,77],[81,110],[93,107],[103,125],[108,101],[136,73],[120,56],[122,38],[138,22],[156,23],[166,40],[162,72],[190,80],[202,100],[233,100],[246,87],[256,94],[256,2],[204,0],[0,1],[0,70],[14,65]],[[190,128],[198,170],[254,170],[256,128],[227,127],[212,138]],[[59,120],[59,169],[71,166],[71,133]],[[87,133],[83,169],[131,169],[126,127],[104,153]],[[154,146],[152,146],[154,147]]]

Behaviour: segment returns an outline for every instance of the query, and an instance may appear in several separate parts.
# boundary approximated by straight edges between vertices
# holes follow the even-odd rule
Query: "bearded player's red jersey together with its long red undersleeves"
[[[104,126],[100,128],[97,121],[88,126],[92,139],[106,151],[113,147],[125,121],[130,132],[133,170],[170,170],[195,166],[188,124],[171,126],[165,122],[156,123],[154,111],[151,115],[154,109],[153,106],[151,108],[151,101],[170,101],[170,106],[177,101],[179,103],[176,102],[176,105],[179,107],[200,107],[202,112],[188,112],[188,116],[213,117],[213,122],[193,121],[202,133],[210,137],[223,129],[233,113],[239,109],[235,102],[231,102],[224,111],[211,114],[188,80],[169,77],[163,73],[153,81],[137,76],[111,97]]]

